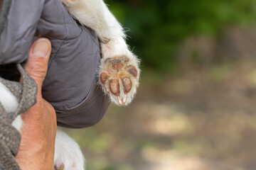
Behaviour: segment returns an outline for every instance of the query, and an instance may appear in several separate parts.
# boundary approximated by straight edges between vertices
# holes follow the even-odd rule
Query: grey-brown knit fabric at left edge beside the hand
[[[15,113],[6,113],[0,103],[0,169],[19,170],[15,156],[21,142],[21,134],[11,123],[18,114],[24,113],[36,103],[37,86],[36,82],[17,64],[18,71],[21,73],[23,84],[2,79],[4,84],[17,98],[18,108]]]

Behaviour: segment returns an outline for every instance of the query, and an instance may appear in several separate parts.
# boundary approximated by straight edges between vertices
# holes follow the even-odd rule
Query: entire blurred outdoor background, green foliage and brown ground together
[[[256,1],[106,0],[142,60],[134,102],[66,130],[89,170],[256,169]]]

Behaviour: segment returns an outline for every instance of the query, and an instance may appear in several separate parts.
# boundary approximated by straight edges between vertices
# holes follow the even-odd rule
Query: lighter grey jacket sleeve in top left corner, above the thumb
[[[44,0],[3,1],[6,5],[2,6],[0,17],[3,24],[0,36],[0,64],[21,63],[27,59],[44,2]]]

